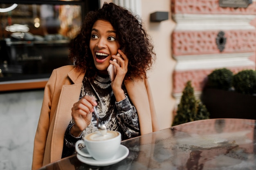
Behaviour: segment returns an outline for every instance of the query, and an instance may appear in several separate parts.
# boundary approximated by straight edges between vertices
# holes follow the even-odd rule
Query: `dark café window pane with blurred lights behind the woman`
[[[18,4],[0,13],[0,81],[49,77],[54,68],[72,64],[69,45],[81,16],[74,4]]]

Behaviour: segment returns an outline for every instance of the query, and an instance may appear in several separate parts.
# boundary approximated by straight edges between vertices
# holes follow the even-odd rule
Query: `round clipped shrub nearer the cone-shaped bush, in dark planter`
[[[221,90],[229,90],[232,87],[233,73],[227,68],[219,68],[209,74],[206,86]]]

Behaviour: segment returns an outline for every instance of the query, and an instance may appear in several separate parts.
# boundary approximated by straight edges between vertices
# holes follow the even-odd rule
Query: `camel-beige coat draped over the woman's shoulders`
[[[42,109],[34,140],[32,170],[61,159],[65,130],[72,119],[71,108],[78,101],[84,73],[74,66],[52,72],[45,86]],[[147,79],[125,82],[137,109],[141,135],[157,131],[157,117]]]

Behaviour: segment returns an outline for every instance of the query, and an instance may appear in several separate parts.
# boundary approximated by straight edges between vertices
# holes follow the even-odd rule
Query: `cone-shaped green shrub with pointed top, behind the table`
[[[172,126],[201,119],[209,119],[209,112],[201,101],[195,98],[194,89],[189,81],[182,92]]]

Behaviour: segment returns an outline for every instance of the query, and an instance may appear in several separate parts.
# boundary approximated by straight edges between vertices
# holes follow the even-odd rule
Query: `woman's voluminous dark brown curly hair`
[[[110,22],[117,30],[117,40],[121,50],[129,59],[125,80],[136,77],[146,78],[146,72],[155,61],[153,45],[142,23],[127,9],[114,3],[104,3],[101,9],[90,11],[86,16],[80,32],[72,42],[69,58],[76,68],[85,72],[89,79],[97,75],[92,53],[90,38],[92,26],[97,20]]]

